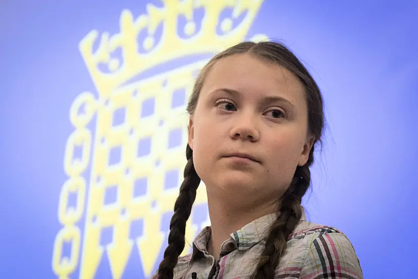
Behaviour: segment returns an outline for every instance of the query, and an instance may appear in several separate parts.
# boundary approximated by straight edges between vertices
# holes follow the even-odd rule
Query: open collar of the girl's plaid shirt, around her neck
[[[305,211],[302,209],[300,221],[306,221]],[[227,254],[235,249],[246,251],[267,237],[270,225],[277,219],[276,213],[264,215],[241,229],[231,233],[231,238],[225,240],[221,246],[221,254]],[[193,256],[208,254],[207,245],[211,236],[211,227],[205,227],[193,241]]]

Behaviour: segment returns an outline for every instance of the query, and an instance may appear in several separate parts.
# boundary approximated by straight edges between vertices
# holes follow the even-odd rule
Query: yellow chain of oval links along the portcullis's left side
[[[86,125],[96,111],[95,102],[93,94],[83,92],[75,98],[70,109],[70,121],[75,130],[68,137],[65,147],[64,170],[68,179],[61,188],[58,203],[58,220],[63,227],[55,237],[52,255],[52,269],[60,279],[67,279],[79,262],[81,232],[77,223],[83,216],[86,197],[86,180],[82,174],[89,166],[92,146],[91,132]],[[74,158],[77,147],[82,149],[81,159]],[[68,208],[71,193],[77,195],[77,201],[75,207]],[[63,256],[65,242],[71,244],[69,257]]]

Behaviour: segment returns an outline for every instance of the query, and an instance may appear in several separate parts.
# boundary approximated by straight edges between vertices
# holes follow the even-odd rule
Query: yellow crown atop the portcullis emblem
[[[80,43],[80,51],[100,95],[108,95],[132,75],[164,62],[192,54],[214,54],[242,41],[262,0],[162,2],[162,8],[148,4],[147,13],[136,19],[129,10],[124,10],[120,32],[113,36],[103,32],[97,50],[93,50],[99,37],[97,30],[92,30]],[[204,14],[199,21],[195,19],[197,11]],[[228,12],[230,16],[220,18]],[[160,26],[162,32],[157,36]],[[142,33],[146,36],[138,42]],[[118,51],[122,52],[120,57],[116,57]]]

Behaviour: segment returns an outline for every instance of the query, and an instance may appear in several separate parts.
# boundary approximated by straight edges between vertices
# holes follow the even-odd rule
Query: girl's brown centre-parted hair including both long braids
[[[235,54],[250,53],[263,61],[280,65],[293,73],[305,88],[308,107],[308,129],[314,136],[314,145],[309,154],[307,163],[297,166],[293,180],[280,197],[280,208],[277,220],[271,225],[264,250],[258,260],[257,266],[251,278],[274,278],[275,270],[286,250],[286,242],[290,233],[294,230],[302,215],[300,206],[311,183],[309,167],[314,162],[314,147],[321,141],[324,129],[324,113],[322,95],[318,85],[309,74],[299,59],[284,45],[276,42],[243,42],[226,49],[214,56],[200,72],[193,93],[189,99],[187,112],[192,115],[197,107],[199,94],[209,69],[216,61]],[[193,151],[187,145],[187,164],[184,168],[184,181],[180,186],[180,193],[174,205],[174,214],[170,222],[168,247],[164,252],[164,259],[158,269],[159,278],[173,278],[173,270],[178,257],[185,245],[186,221],[192,211],[192,205],[196,198],[196,190],[200,184],[200,178],[193,164]]]

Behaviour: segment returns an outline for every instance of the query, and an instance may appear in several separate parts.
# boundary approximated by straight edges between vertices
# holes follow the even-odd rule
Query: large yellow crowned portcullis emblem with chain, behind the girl
[[[87,183],[81,173],[91,166],[88,193],[85,191],[88,198],[81,278],[94,278],[104,253],[113,278],[121,278],[135,247],[145,276],[155,269],[167,241],[163,215],[171,214],[181,183],[180,173],[186,163],[187,131],[182,106],[192,91],[194,73],[207,62],[207,57],[245,39],[262,0],[162,2],[163,7],[148,4],[146,13],[136,19],[129,10],[124,10],[118,33],[99,34],[92,30],[79,44],[98,92],[98,96],[84,92],[74,100],[70,120],[75,131],[66,148],[67,168],[72,170],[67,172],[72,184],[64,187],[65,193],[80,189],[78,196],[82,199]],[[159,69],[160,65],[191,56],[199,58],[135,80],[147,71]],[[85,113],[79,115],[79,111]],[[122,124],[115,124],[118,113],[123,115]],[[96,127],[90,131],[86,125],[93,115],[97,116]],[[74,164],[70,159],[80,142],[83,157],[80,163]],[[110,162],[111,154],[120,154],[117,163]],[[108,203],[107,193],[112,191],[117,193],[117,198]],[[206,205],[205,192],[205,187],[198,188],[194,208]],[[62,208],[66,200],[63,199]],[[80,204],[79,217],[83,210]],[[81,238],[74,224],[80,218],[73,219],[72,223],[63,222],[65,233],[57,237],[63,241],[73,236],[73,246],[79,247]],[[186,239],[192,240],[205,220],[209,220],[203,219],[192,212]],[[107,232],[112,235],[110,242],[103,240]],[[75,270],[78,254],[62,264],[61,246],[56,247],[54,270],[66,278]],[[190,251],[184,250],[183,254],[187,252]]]

